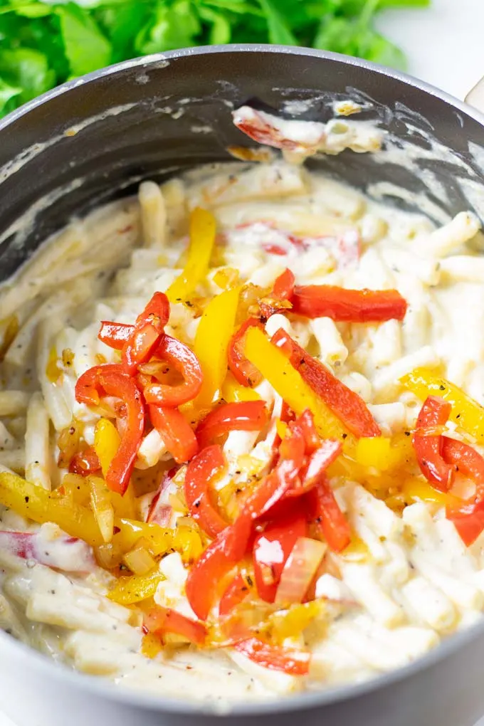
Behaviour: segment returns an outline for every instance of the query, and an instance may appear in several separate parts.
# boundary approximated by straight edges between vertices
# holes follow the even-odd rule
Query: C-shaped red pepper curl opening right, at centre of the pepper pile
[[[189,463],[185,475],[185,499],[189,513],[209,537],[229,526],[210,502],[210,481],[226,467],[218,444],[202,449]]]

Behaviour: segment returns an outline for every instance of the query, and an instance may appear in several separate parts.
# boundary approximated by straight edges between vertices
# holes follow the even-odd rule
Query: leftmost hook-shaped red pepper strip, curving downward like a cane
[[[87,393],[86,393],[87,389]],[[121,436],[118,452],[107,470],[107,486],[113,492],[124,494],[128,489],[131,472],[144,433],[144,404],[141,393],[132,378],[120,372],[120,366],[105,365],[89,369],[75,385],[75,397],[88,403],[95,395],[116,396],[126,407],[126,430]],[[87,400],[86,400],[87,399]]]

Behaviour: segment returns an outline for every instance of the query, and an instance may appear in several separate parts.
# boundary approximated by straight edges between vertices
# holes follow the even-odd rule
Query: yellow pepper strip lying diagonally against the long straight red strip
[[[305,383],[284,353],[258,327],[247,330],[245,356],[260,370],[296,415],[300,416],[306,409],[312,412],[319,436],[323,439],[345,441],[345,448],[354,445],[354,436]]]

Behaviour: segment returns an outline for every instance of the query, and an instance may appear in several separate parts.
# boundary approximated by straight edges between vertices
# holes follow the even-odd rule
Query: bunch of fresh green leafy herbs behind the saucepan
[[[67,78],[223,43],[304,45],[405,67],[374,15],[430,0],[0,0],[0,117]]]

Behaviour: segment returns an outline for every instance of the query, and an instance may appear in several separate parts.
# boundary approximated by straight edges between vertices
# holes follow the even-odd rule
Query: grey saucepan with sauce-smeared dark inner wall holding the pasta
[[[374,197],[436,220],[484,221],[484,115],[387,68],[278,46],[213,46],[133,60],[65,83],[0,122],[0,280],[73,214],[231,159],[247,144],[231,108],[327,121],[352,99],[387,131],[377,155],[311,163]],[[484,110],[484,84],[468,97]],[[1,311],[0,311],[1,318]],[[131,692],[70,672],[0,633],[0,706],[19,726],[472,726],[484,713],[484,620],[419,661],[375,680],[221,712],[206,701]]]

